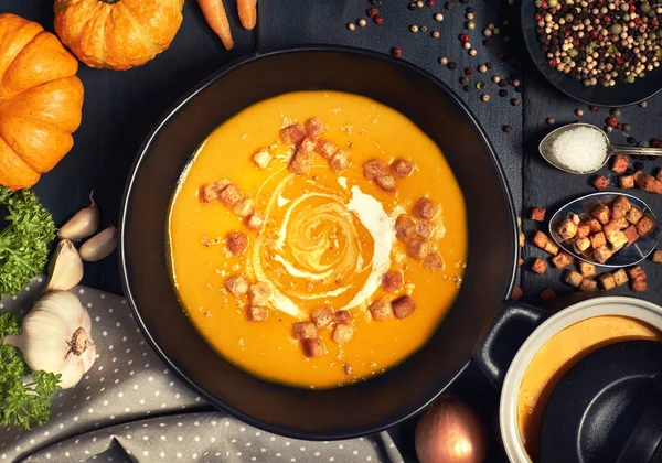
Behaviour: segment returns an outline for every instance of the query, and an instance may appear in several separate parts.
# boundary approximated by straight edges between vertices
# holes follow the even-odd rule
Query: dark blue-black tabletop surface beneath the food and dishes
[[[189,0],[182,29],[172,46],[152,62],[124,73],[95,71],[81,65],[78,75],[85,84],[86,97],[83,125],[75,133],[75,147],[52,173],[41,180],[35,191],[52,211],[56,224],[62,224],[87,204],[87,196],[94,190],[102,211],[102,225],[116,224],[125,177],[135,154],[149,130],[183,93],[224,64],[253,51],[329,43],[383,53],[398,46],[403,50],[403,60],[426,68],[458,91],[491,137],[521,215],[525,216],[531,206],[546,206],[553,211],[565,201],[590,193],[589,177],[555,171],[540,158],[536,147],[549,130],[546,123],[548,117],[556,119],[557,125],[572,122],[577,119],[575,109],[581,108],[585,112],[581,120],[601,126],[608,110],[591,114],[586,105],[574,103],[543,80],[521,52],[517,4],[509,6],[505,0],[469,0],[466,4],[457,0],[451,2],[455,4],[452,10],[448,10],[444,1],[436,0],[434,7],[412,11],[405,0],[383,0],[375,4],[384,18],[384,24],[377,25],[366,18],[365,10],[371,7],[366,0],[259,1],[258,26],[247,32],[238,25],[234,2],[226,0],[236,42],[235,50],[228,53],[206,26],[196,2]],[[43,0],[3,0],[1,11],[21,14],[52,30],[51,4]],[[465,29],[467,7],[473,8],[476,14],[476,30],[470,32]],[[434,20],[437,12],[444,14],[442,22]],[[361,18],[366,19],[367,25],[349,31],[346,24]],[[509,21],[509,25],[504,25],[504,21]],[[482,30],[489,23],[494,23],[502,33],[492,37],[492,46],[484,46]],[[413,33],[409,30],[412,24],[425,25],[428,30]],[[434,39],[433,31],[439,31],[440,37]],[[460,33],[471,35],[471,42],[479,52],[476,57],[461,49]],[[505,37],[510,41],[506,42]],[[503,60],[499,53],[503,53]],[[441,56],[456,62],[457,68],[449,71],[440,65]],[[493,69],[478,73],[479,64],[487,62],[493,63]],[[468,66],[476,72],[469,77],[470,91],[466,93],[459,78]],[[511,73],[522,80],[523,93],[517,94],[511,86],[506,87],[508,97],[498,96],[500,87],[491,82],[492,75],[505,78]],[[487,84],[482,91],[476,89],[479,80]],[[491,100],[481,101],[481,94],[489,94]],[[520,98],[522,104],[513,106],[511,98]],[[620,119],[632,125],[632,136],[650,139],[662,134],[658,119],[662,116],[660,103],[662,100],[658,97],[649,103],[647,109],[638,106],[623,109]],[[504,125],[512,127],[510,133],[502,130]],[[626,142],[621,132],[612,133],[612,140]],[[647,164],[650,172],[653,162]],[[649,201],[653,208],[662,205],[661,200],[649,194],[639,191],[636,194]],[[525,219],[523,226],[530,237],[535,229],[534,224]],[[536,294],[548,286],[559,293],[569,292],[568,287],[560,282],[559,271],[548,270],[544,276],[537,276],[526,270],[534,256],[542,254],[530,246],[523,250],[526,263],[520,279],[526,299],[540,302]],[[649,291],[642,297],[662,302],[662,293],[654,283],[662,278],[662,267],[655,269],[647,262],[645,269],[649,272]],[[85,271],[84,284],[120,292],[116,260],[110,258],[86,265]],[[621,289],[615,292],[628,291]],[[491,434],[490,461],[505,461],[498,437],[498,391],[470,367],[468,374],[453,385],[452,392],[466,399],[482,417]],[[407,461],[415,461],[414,424],[405,423],[393,430]]]

